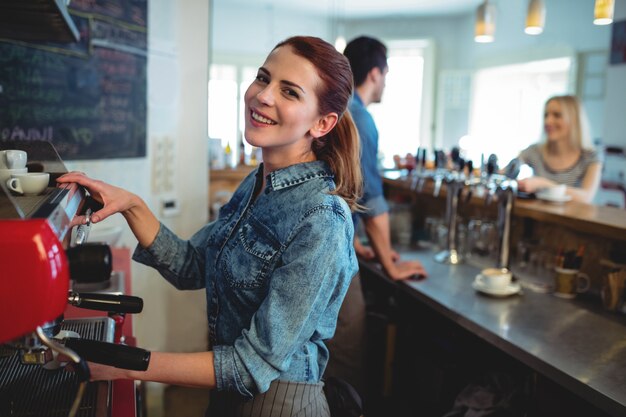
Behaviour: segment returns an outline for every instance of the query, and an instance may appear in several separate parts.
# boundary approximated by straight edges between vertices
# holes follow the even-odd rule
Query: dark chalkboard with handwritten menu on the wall
[[[74,44],[0,39],[0,141],[64,160],[146,155],[147,0],[73,0]]]

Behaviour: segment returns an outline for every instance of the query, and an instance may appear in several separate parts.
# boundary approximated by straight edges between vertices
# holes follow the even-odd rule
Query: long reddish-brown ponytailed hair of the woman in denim
[[[312,144],[317,159],[325,161],[335,174],[336,189],[351,210],[359,208],[363,178],[360,163],[359,134],[346,111],[352,97],[353,80],[350,64],[328,42],[311,36],[294,36],[280,42],[276,48],[290,46],[296,55],[311,62],[317,69],[322,83],[317,88],[320,114],[337,113],[337,125]]]

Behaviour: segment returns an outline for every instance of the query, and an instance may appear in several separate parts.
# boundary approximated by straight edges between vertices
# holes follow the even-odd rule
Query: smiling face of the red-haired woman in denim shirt
[[[290,46],[275,49],[246,91],[245,137],[248,143],[281,157],[310,151],[320,119],[316,87],[321,78],[311,62]]]

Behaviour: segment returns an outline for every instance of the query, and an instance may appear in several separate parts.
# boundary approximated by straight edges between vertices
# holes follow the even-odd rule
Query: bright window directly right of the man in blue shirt
[[[415,154],[420,146],[430,146],[428,98],[425,79],[432,74],[430,43],[423,40],[388,41],[386,87],[381,103],[371,104],[379,133],[378,150],[384,168],[394,166],[393,156]]]

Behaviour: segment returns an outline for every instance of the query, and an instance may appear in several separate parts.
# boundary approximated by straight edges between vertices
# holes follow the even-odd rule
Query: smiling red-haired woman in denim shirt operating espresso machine
[[[206,289],[213,350],[152,352],[145,372],[93,366],[93,379],[208,387],[210,415],[263,417],[284,408],[287,416],[329,416],[324,341],[358,269],[351,209],[360,197],[359,141],[346,112],[352,85],[347,59],[329,43],[279,43],[245,94],[246,140],[262,149],[263,163],[189,240],[137,195],[82,173],[58,179],[81,184],[104,205],[94,223],[124,215],[139,241],[136,261],[178,289]]]

